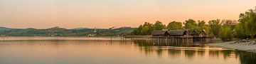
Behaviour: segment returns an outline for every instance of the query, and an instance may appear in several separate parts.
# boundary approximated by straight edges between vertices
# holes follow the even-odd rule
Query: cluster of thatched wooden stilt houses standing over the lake
[[[151,40],[157,43],[210,43],[206,31],[189,32],[186,30],[171,30],[171,31],[153,31]]]

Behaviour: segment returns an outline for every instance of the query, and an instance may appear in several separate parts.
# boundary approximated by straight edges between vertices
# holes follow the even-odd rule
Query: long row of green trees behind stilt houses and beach
[[[132,31],[132,35],[150,35],[154,30],[205,30],[208,36],[221,38],[223,41],[232,41],[233,38],[255,38],[256,34],[256,7],[240,14],[239,20],[195,21],[191,18],[183,21],[171,21],[166,26],[161,21],[156,23],[145,22]]]

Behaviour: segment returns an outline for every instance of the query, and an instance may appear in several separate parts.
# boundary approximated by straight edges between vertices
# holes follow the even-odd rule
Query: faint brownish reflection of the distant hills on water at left
[[[5,41],[0,43],[1,46],[53,46],[58,48],[59,46],[85,46],[85,45],[132,45],[132,42],[121,42],[117,40],[17,40],[17,41]]]

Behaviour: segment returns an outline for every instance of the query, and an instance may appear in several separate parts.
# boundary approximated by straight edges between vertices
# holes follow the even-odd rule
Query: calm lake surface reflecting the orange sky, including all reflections
[[[255,53],[147,41],[1,41],[0,64],[255,64]]]

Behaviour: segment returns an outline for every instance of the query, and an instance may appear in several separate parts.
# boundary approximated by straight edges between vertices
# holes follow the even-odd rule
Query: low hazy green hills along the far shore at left
[[[134,28],[97,28],[97,33],[94,33],[95,28],[5,28],[0,27],[0,35],[6,36],[119,36],[131,33]]]

